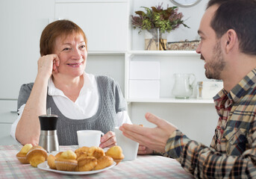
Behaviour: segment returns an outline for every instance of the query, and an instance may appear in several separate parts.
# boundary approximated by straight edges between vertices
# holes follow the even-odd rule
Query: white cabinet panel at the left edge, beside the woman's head
[[[0,1],[0,98],[18,98],[22,84],[34,81],[40,34],[54,17],[52,0]]]

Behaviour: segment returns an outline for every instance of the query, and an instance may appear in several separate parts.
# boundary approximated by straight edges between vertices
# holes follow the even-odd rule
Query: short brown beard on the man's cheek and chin
[[[225,67],[220,42],[217,42],[213,48],[213,57],[210,62],[206,63],[205,76],[208,79],[221,80],[220,73]]]

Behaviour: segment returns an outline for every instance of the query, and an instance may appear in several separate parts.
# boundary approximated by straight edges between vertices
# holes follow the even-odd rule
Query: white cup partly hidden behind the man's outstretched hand
[[[122,148],[122,154],[125,155],[124,161],[135,160],[137,158],[139,143],[124,136],[122,131],[119,130],[119,127],[115,128],[115,134],[116,145]]]

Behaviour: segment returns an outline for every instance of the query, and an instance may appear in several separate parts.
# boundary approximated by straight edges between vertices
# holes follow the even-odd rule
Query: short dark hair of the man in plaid
[[[207,8],[219,5],[210,22],[218,38],[229,29],[237,33],[240,51],[256,55],[256,1],[210,0]]]

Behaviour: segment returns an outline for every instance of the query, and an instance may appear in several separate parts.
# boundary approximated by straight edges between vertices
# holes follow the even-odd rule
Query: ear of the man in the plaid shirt
[[[225,52],[230,52],[237,44],[237,33],[233,29],[229,29],[225,34]]]

